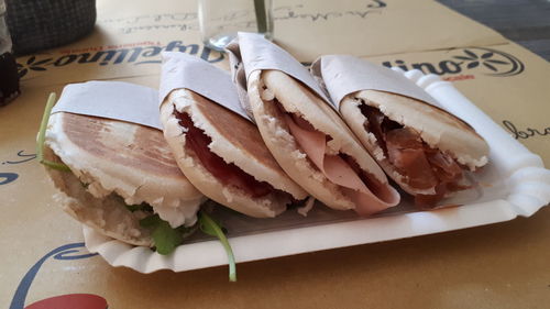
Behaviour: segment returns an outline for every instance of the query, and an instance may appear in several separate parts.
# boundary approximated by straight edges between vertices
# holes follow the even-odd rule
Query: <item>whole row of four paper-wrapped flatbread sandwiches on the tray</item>
[[[314,198],[366,217],[398,205],[399,192],[421,209],[441,206],[487,163],[485,141],[429,98],[361,87],[342,96],[338,82],[346,82],[346,70],[329,67],[333,58],[314,65],[316,79],[273,43],[243,37],[230,51],[237,87],[206,62],[164,55],[156,126],[120,114],[46,111],[38,147],[64,209],[106,235],[169,254],[196,229],[206,199],[254,218]],[[280,67],[258,64],[246,46],[257,40],[267,46],[263,58]],[[169,74],[184,81],[174,84]],[[417,87],[399,73],[389,76]]]

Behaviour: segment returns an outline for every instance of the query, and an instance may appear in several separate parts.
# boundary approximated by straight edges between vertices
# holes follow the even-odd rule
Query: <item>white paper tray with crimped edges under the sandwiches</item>
[[[432,211],[416,211],[405,200],[397,208],[367,219],[320,205],[307,218],[290,210],[275,219],[251,219],[218,208],[212,217],[230,231],[229,240],[238,263],[503,222],[517,216],[530,217],[550,202],[550,170],[544,169],[539,156],[508,135],[452,84],[419,70],[396,70],[416,81],[488,142],[490,164],[479,177],[482,194],[474,199],[471,195],[459,197],[459,200],[470,199],[463,206]],[[110,265],[141,273],[184,272],[228,263],[221,244],[213,239],[193,239],[191,243],[163,256],[87,227],[84,227],[84,235],[87,249],[99,253]]]

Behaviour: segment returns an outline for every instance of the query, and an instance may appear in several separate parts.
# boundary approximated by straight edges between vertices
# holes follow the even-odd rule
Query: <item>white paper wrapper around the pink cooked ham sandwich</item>
[[[330,104],[329,98],[308,69],[287,51],[265,40],[262,35],[239,32],[238,40],[231,42],[227,51],[231,63],[233,82],[239,88],[239,96],[245,108],[249,100],[246,96],[246,80],[252,71],[258,69],[277,69],[284,71],[301,81]]]

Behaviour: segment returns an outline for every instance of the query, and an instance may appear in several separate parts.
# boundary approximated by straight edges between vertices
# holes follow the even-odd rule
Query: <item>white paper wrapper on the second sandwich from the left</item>
[[[228,71],[185,53],[164,52],[160,104],[174,89],[189,89],[250,121]]]

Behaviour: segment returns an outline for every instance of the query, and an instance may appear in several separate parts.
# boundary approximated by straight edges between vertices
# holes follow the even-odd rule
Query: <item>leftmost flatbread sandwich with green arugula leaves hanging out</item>
[[[133,96],[124,98],[130,92]],[[113,106],[134,99],[130,107],[152,103],[154,111],[156,96],[141,86],[91,81],[67,86],[59,101],[69,107],[79,100]],[[172,252],[195,225],[205,197],[180,173],[162,132],[63,110],[48,115],[46,109],[38,155],[61,191],[56,199],[64,210],[108,236]]]

